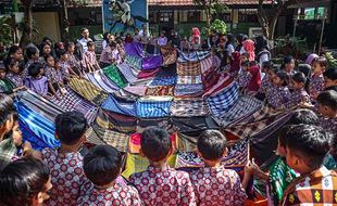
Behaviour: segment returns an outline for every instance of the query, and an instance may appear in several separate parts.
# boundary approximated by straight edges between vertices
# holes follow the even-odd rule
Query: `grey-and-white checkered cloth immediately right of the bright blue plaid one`
[[[194,117],[210,114],[209,105],[201,98],[174,99],[171,106],[172,116]]]

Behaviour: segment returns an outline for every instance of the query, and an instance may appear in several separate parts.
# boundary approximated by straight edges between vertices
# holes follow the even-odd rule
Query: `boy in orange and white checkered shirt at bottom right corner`
[[[300,177],[288,185],[282,205],[337,204],[337,175],[322,166],[328,150],[329,138],[321,127],[298,125],[287,131],[287,164]]]

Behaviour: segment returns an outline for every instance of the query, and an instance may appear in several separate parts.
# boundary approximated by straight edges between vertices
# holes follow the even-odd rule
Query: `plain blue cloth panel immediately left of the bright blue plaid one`
[[[115,99],[113,95],[109,95],[102,104],[102,108],[118,113],[122,115],[137,116],[136,102]]]

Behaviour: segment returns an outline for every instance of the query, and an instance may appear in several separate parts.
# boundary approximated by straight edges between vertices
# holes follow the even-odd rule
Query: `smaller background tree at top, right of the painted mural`
[[[213,14],[224,13],[227,7],[220,0],[194,0],[196,5],[200,5],[205,12],[207,27],[210,27]]]

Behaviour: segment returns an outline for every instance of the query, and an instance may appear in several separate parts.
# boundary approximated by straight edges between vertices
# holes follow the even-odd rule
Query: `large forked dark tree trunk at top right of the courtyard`
[[[288,5],[296,3],[296,0],[273,0],[272,5],[265,2],[269,0],[259,0],[258,20],[262,27],[263,35],[269,40],[274,40],[274,31],[276,23],[280,13],[288,8]]]

